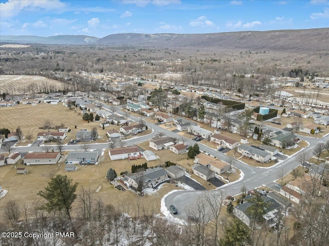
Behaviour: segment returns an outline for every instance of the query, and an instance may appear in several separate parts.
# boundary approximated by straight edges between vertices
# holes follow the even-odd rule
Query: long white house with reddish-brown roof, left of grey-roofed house
[[[24,156],[23,162],[24,165],[54,164],[60,157],[60,153],[57,152],[31,152]]]

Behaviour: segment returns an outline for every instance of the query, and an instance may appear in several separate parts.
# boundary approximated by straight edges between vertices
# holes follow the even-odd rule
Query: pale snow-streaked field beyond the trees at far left
[[[1,75],[0,90],[1,93],[19,95],[26,93],[35,93],[28,89],[29,85],[35,84],[38,88],[45,88],[52,91],[63,90],[63,83],[54,79],[34,76],[34,75]]]

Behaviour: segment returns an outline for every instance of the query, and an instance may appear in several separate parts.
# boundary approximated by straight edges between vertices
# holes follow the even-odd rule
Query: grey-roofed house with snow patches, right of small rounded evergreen
[[[143,183],[142,188],[155,188],[166,180],[168,180],[168,172],[163,168],[148,168],[144,172],[126,174],[126,180],[129,187],[138,188],[140,182]]]

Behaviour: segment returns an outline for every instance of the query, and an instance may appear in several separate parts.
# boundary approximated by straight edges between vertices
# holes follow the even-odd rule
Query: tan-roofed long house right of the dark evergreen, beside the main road
[[[205,153],[199,153],[196,155],[194,157],[194,163],[209,168],[211,171],[214,171],[218,174],[225,173],[230,170],[230,165],[228,165],[226,162]]]

